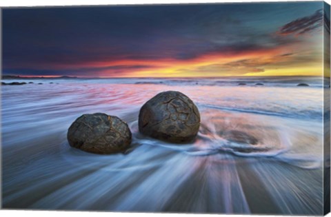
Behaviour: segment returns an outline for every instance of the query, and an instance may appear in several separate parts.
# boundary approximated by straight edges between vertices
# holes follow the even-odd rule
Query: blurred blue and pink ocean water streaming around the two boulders
[[[5,209],[315,215],[323,210],[323,91],[330,91],[330,83],[321,78],[24,81],[34,83],[1,87]],[[201,127],[192,143],[139,134],[140,107],[166,90],[183,92],[199,108]],[[130,149],[98,155],[68,145],[71,123],[94,112],[128,123]],[[233,131],[257,145],[223,137]]]

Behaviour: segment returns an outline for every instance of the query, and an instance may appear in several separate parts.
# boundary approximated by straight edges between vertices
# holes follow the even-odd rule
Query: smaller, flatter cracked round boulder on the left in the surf
[[[113,154],[123,152],[131,143],[128,124],[117,116],[83,114],[68,130],[68,142],[86,152]]]

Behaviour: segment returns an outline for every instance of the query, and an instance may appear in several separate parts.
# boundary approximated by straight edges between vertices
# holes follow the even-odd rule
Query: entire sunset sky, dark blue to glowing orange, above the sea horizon
[[[3,74],[323,74],[321,1],[7,8],[2,16]]]

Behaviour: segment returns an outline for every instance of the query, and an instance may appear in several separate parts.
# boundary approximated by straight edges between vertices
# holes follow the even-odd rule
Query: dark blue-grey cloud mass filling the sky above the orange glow
[[[301,10],[310,5],[318,3],[300,4]],[[272,50],[298,41],[272,35],[280,24],[268,23],[274,20],[270,14],[288,14],[288,6],[297,8],[296,3],[4,8],[3,72],[120,74],[163,60]],[[122,60],[143,63],[121,65]],[[151,65],[144,65],[148,61]],[[95,67],[98,63],[108,66]]]

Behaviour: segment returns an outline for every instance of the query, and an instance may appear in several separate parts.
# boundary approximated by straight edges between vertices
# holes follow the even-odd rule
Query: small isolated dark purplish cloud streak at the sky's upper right
[[[312,32],[323,25],[323,10],[317,10],[314,14],[296,19],[281,27],[279,34],[305,34]]]

